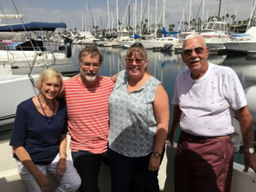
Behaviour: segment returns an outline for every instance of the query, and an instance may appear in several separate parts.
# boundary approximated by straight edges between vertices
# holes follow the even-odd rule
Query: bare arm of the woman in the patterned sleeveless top
[[[165,92],[163,85],[157,86],[153,106],[157,118],[157,134],[153,152],[162,154],[163,145],[165,144],[165,140],[167,137],[170,118],[168,95]],[[152,154],[150,157],[149,170],[158,170],[160,166],[160,160],[161,157],[155,157]]]

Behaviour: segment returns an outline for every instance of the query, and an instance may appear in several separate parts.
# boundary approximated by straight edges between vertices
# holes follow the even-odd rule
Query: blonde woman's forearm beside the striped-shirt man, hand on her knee
[[[61,135],[61,144],[60,144],[60,160],[56,166],[56,177],[60,178],[62,174],[67,169],[66,164],[67,158],[67,134]]]

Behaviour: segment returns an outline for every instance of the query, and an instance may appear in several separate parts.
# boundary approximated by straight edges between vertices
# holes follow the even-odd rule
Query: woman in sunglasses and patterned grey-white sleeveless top
[[[144,192],[158,192],[170,117],[168,96],[150,75],[140,43],[128,48],[125,64],[126,70],[112,77],[115,86],[109,99],[112,192],[128,191],[134,170],[144,178]]]

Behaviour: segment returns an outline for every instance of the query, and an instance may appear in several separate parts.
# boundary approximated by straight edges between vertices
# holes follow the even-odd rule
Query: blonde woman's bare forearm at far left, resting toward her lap
[[[42,191],[48,192],[49,190],[49,180],[48,177],[45,176],[41,170],[39,170],[35,163],[33,163],[29,153],[23,146],[13,147],[16,156],[22,162],[22,164],[29,170],[29,172],[35,177],[35,181],[41,187]]]

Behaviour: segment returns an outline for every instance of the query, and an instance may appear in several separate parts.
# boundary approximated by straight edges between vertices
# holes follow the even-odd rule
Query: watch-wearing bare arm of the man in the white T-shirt
[[[249,112],[248,106],[244,106],[235,111],[240,121],[240,129],[243,136],[244,148],[253,147],[253,118]],[[245,172],[251,167],[256,172],[256,154],[244,153]]]

